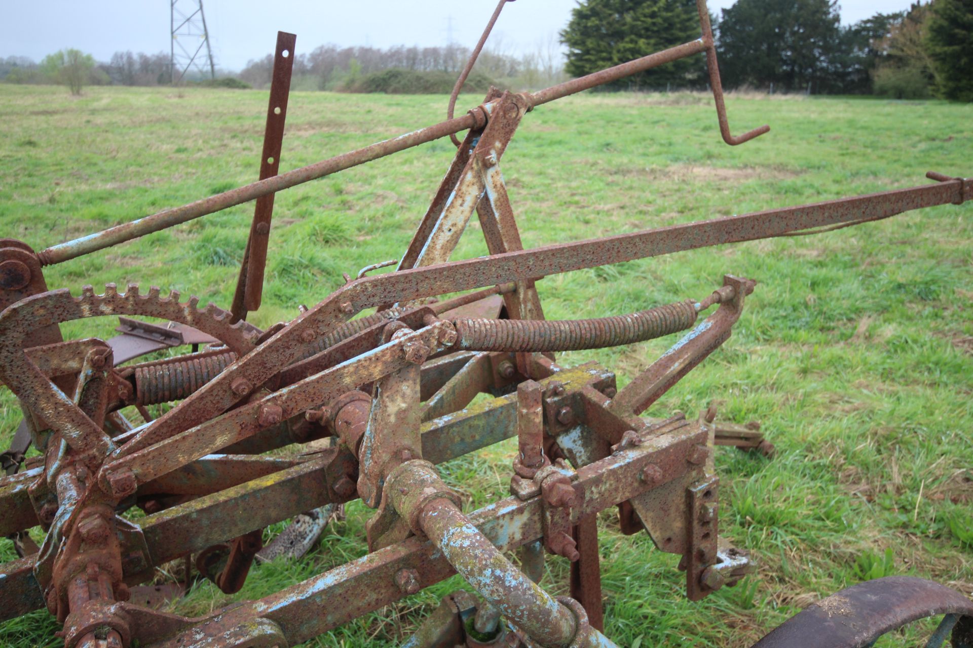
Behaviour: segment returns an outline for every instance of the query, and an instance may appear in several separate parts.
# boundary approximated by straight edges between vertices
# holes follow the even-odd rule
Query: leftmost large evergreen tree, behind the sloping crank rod
[[[565,70],[575,77],[700,38],[694,0],[581,0],[560,32]],[[683,58],[623,79],[616,88],[702,85],[703,55]]]

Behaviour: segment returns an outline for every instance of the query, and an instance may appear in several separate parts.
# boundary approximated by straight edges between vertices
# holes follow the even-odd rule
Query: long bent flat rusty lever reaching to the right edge
[[[306,331],[314,336],[331,330],[353,313],[367,308],[636,258],[769,238],[836,223],[878,220],[921,207],[955,203],[957,196],[968,199],[971,195],[971,181],[944,182],[363,277],[345,284],[259,348],[238,359],[234,372],[220,374],[179,407],[148,424],[139,437],[120,448],[116,456],[125,457],[151,443],[184,432],[200,420],[226,411],[239,400],[239,395],[232,389],[233,380],[242,378],[253,385],[263,384],[279,371],[280,366],[300,356],[302,348],[294,343],[295,338],[305,335]],[[239,438],[242,436],[244,434]],[[198,457],[221,447],[207,448]]]

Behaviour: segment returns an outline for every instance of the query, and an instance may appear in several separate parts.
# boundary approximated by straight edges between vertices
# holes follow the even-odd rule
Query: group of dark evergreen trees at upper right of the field
[[[973,101],[973,0],[916,2],[843,26],[836,0],[738,0],[711,17],[723,85]],[[699,38],[694,0],[582,0],[561,32],[566,70],[589,74]],[[698,88],[700,57],[616,87]]]

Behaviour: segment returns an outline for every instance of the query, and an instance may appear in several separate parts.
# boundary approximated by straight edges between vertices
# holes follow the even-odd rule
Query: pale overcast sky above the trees
[[[192,4],[193,0],[178,0]],[[710,10],[734,0],[710,0]],[[108,60],[115,51],[168,51],[169,0],[3,0],[0,56],[40,60],[73,47]],[[842,21],[909,7],[909,0],[845,0]],[[204,0],[217,65],[238,70],[273,50],[276,31],[298,35],[298,53],[318,45],[472,47],[495,0]],[[494,39],[510,52],[556,38],[575,0],[519,0],[504,8]],[[450,19],[451,17],[451,19]],[[451,28],[450,28],[451,27]],[[495,44],[495,40],[493,42]],[[673,45],[676,45],[673,43]]]

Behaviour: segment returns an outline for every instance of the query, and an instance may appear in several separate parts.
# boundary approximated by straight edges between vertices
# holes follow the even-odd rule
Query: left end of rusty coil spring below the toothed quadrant
[[[236,354],[226,352],[135,367],[135,402],[158,405],[185,398],[233,364]]]

